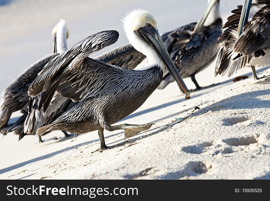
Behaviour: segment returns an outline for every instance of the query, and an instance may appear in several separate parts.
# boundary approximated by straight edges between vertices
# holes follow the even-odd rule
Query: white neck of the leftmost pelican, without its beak
[[[56,48],[57,53],[62,53],[67,50],[67,26],[64,20],[60,20],[57,24]]]

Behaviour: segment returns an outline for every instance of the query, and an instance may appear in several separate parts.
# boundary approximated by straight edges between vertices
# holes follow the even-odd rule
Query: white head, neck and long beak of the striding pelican
[[[155,18],[147,10],[136,9],[122,21],[129,43],[147,57],[149,67],[166,67],[188,97],[189,91],[160,37]]]

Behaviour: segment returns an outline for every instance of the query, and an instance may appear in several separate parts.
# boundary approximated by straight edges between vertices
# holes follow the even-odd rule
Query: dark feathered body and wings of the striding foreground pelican
[[[38,129],[37,134],[62,129],[80,134],[104,128],[105,124],[113,124],[137,110],[151,95],[160,84],[163,71],[159,66],[141,71],[128,70],[145,59],[145,55],[131,45],[116,48],[94,59],[87,57],[117,39],[118,32],[115,31],[89,36],[55,57],[42,70],[29,91],[32,96],[45,91],[40,102],[40,106],[44,104],[44,110],[50,108],[48,103],[55,91],[58,97],[61,95],[79,103],[52,124]],[[78,59],[74,58],[69,63],[66,57],[71,54],[78,55]],[[123,68],[108,63],[122,65]],[[70,69],[69,65],[73,68]]]

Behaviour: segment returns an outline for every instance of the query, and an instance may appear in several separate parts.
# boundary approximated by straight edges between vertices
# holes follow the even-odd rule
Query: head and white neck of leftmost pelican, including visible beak
[[[52,29],[53,53],[67,50],[69,32],[65,20],[61,19]]]

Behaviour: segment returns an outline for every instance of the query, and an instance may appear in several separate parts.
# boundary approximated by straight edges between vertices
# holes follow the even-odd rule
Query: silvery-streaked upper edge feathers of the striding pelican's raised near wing
[[[28,94],[35,97],[42,91],[46,91],[48,86],[55,84],[55,79],[52,79],[52,77],[60,76],[65,69],[78,68],[88,55],[115,43],[118,37],[119,33],[114,30],[98,32],[59,54],[48,62],[38,74],[37,78],[30,85]]]

